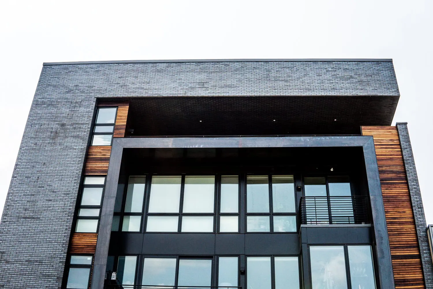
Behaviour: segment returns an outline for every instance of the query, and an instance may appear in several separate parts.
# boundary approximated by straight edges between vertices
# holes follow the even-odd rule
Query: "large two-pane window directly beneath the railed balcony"
[[[310,246],[312,288],[376,288],[372,247],[347,246],[347,254],[345,246]]]

